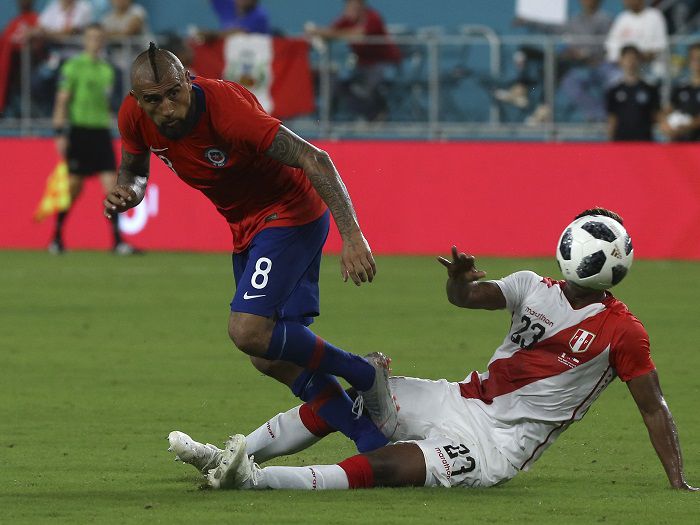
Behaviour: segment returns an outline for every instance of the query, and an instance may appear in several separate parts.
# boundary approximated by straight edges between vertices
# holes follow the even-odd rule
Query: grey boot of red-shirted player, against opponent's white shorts
[[[359,393],[353,408],[361,411],[364,405],[377,428],[391,439],[399,426],[399,407],[389,385],[391,359],[381,352],[367,354],[365,359],[374,367],[374,384],[369,390]]]

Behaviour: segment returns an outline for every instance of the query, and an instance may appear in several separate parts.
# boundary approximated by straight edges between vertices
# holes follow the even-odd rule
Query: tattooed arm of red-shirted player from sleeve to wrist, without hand
[[[280,126],[266,154],[282,164],[304,168],[311,184],[331,210],[341,235],[357,229],[357,216],[348,190],[326,152]]]

